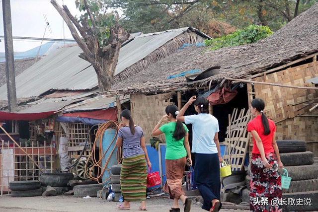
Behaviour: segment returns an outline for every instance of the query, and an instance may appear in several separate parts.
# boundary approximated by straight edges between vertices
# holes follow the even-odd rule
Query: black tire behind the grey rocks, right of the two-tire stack
[[[41,174],[42,186],[67,187],[70,180],[74,179],[73,173],[48,173]]]

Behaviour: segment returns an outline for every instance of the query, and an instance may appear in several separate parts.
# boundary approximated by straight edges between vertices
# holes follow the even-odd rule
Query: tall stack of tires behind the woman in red
[[[318,162],[314,160],[314,153],[307,151],[306,141],[282,140],[277,141],[277,145],[281,161],[288,171],[288,176],[292,178],[289,189],[282,191],[283,200],[286,200],[283,211],[318,211]],[[281,171],[281,175],[283,174],[284,171]],[[245,178],[247,189],[242,193],[244,200],[249,200],[249,175],[250,166]],[[309,199],[310,204],[306,203]],[[288,204],[288,200],[293,201]]]

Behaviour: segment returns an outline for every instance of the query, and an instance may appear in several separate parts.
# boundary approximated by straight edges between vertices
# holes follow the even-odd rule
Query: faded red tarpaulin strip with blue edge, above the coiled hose
[[[108,108],[107,110],[97,110],[93,112],[66,113],[62,117],[80,117],[98,120],[117,120],[117,108]]]

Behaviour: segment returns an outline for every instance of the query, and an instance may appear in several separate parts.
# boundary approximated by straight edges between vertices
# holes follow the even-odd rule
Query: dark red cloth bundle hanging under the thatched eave
[[[226,104],[238,94],[237,90],[231,90],[230,87],[222,87],[220,90],[211,93],[208,100],[212,105]]]

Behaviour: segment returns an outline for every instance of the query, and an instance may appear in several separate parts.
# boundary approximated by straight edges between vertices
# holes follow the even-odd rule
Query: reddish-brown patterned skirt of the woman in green
[[[171,200],[175,198],[179,199],[180,196],[184,195],[182,178],[186,160],[186,157],[176,160],[165,160],[165,174],[167,180],[164,183],[162,190],[169,194]]]

